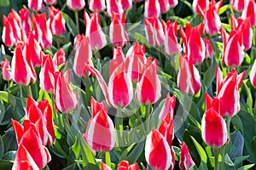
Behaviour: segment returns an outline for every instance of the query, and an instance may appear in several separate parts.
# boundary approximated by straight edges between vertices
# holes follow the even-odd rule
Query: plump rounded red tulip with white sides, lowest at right
[[[204,113],[201,134],[205,143],[212,148],[220,148],[227,142],[227,127],[224,118],[213,108]]]

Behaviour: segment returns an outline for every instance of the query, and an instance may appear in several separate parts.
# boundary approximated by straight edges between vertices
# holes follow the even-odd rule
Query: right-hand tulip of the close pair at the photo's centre
[[[143,76],[137,82],[135,92],[136,99],[143,105],[152,105],[160,99],[161,83],[157,76],[156,60],[148,58],[147,63],[143,65]]]

